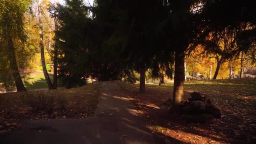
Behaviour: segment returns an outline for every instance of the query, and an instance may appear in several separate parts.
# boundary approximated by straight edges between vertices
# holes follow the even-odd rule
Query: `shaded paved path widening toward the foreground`
[[[117,83],[102,82],[100,91],[95,117],[28,120],[25,128],[0,136],[0,144],[165,144],[165,138],[151,133],[136,116]]]

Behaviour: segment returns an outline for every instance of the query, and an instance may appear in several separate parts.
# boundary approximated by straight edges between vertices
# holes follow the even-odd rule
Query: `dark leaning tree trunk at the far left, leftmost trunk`
[[[19,69],[17,66],[16,56],[15,56],[15,48],[13,46],[13,41],[11,37],[8,37],[8,57],[10,60],[10,65],[12,68],[12,75],[14,77],[14,82],[17,88],[17,91],[27,91],[22,83],[21,76],[19,74]]]

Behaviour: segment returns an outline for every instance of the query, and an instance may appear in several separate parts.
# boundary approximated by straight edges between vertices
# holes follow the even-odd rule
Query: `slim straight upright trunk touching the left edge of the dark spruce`
[[[55,0],[54,1],[55,7],[57,7],[57,3],[58,3],[58,0]],[[54,17],[54,27],[55,27],[55,31],[57,31],[58,21],[56,17]],[[53,57],[53,89],[57,89],[57,85],[58,85],[57,72],[58,72],[58,38],[55,38],[54,57]]]

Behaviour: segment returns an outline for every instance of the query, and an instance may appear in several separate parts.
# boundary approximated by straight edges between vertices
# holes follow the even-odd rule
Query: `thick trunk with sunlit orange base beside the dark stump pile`
[[[173,109],[178,110],[183,103],[184,90],[184,51],[175,52],[174,86],[173,86]]]

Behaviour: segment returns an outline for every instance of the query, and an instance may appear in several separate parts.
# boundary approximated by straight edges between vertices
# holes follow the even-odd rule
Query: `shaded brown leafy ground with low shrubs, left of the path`
[[[23,119],[85,118],[95,113],[99,86],[0,94],[0,134]]]

